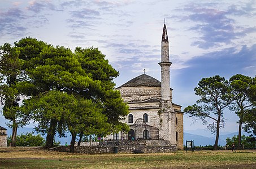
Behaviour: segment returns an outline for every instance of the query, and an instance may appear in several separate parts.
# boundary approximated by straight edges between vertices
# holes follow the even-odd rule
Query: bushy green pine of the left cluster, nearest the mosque
[[[85,74],[96,83],[92,83],[92,87],[88,86],[88,90],[76,88],[72,91],[81,98],[77,99],[79,106],[74,111],[75,115],[68,116],[74,118],[67,120],[70,122],[68,126],[72,135],[71,152],[76,135],[106,136],[114,131],[128,131],[128,126],[121,122],[128,114],[128,106],[123,102],[120,92],[114,90],[115,83],[112,81],[118,76],[118,72],[98,48],[77,47],[75,56]]]

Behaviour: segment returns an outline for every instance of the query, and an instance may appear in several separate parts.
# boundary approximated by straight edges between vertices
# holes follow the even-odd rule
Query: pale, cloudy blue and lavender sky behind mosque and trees
[[[98,47],[119,71],[118,87],[144,69],[160,81],[164,22],[173,103],[182,110],[196,103],[194,87],[202,78],[255,77],[256,0],[0,0],[0,45],[33,37],[71,50]],[[236,115],[225,110],[224,117],[221,131],[236,132]],[[198,128],[206,126],[184,114],[184,130]]]

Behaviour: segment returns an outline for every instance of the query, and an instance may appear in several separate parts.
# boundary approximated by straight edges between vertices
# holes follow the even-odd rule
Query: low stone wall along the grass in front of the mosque
[[[70,152],[70,146],[57,146],[52,151]],[[75,146],[75,153],[103,154],[103,153],[172,153],[177,151],[177,146],[145,146],[145,145],[98,145],[98,146]]]

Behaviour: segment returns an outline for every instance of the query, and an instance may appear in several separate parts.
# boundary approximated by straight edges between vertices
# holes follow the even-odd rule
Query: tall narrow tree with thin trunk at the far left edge
[[[16,146],[18,126],[24,126],[29,121],[29,115],[20,112],[19,101],[21,93],[18,84],[21,81],[22,61],[19,59],[19,50],[11,47],[9,43],[0,46],[0,96],[3,106],[2,113],[10,120],[12,128],[11,146]]]

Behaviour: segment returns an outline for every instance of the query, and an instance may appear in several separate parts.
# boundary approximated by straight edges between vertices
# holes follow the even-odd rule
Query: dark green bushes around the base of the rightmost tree
[[[232,138],[227,137],[226,144],[231,147],[232,143],[235,143],[235,145],[238,144],[238,135],[233,136]],[[250,137],[250,136],[241,136],[241,145],[244,145],[245,149],[255,149],[256,148],[256,137]]]

